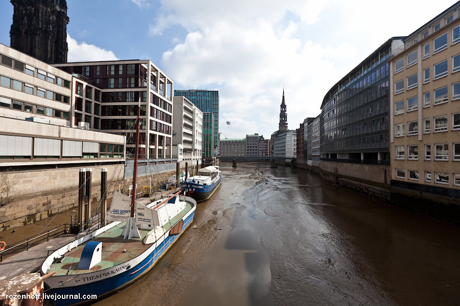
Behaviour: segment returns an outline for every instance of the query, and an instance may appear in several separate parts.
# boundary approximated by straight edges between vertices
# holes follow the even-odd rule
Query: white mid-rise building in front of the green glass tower
[[[173,97],[173,157],[201,163],[202,132],[203,112],[186,97]]]

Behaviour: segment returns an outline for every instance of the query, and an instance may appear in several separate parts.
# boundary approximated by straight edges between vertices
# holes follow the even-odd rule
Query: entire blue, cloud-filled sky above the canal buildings
[[[283,88],[295,130],[386,40],[411,34],[454,3],[67,0],[67,60],[150,59],[174,89],[219,90],[226,138],[267,139],[278,130]],[[0,0],[0,43],[8,46],[12,20],[12,4]]]

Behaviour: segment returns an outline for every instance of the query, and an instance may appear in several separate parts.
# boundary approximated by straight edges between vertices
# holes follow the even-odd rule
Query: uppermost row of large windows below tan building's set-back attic
[[[460,41],[460,25],[452,29],[452,43],[451,45],[456,44]],[[447,48],[447,33],[444,33],[441,36],[438,36],[433,39],[433,54],[441,52]],[[423,45],[423,59],[427,59],[430,57],[430,43],[426,43]],[[406,56],[407,65],[406,67],[413,66],[417,64],[417,50],[409,53]],[[399,73],[404,70],[404,58],[401,58],[395,61],[395,74]]]

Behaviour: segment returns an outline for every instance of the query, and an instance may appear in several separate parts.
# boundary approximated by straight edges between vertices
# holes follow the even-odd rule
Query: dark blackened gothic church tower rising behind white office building
[[[67,62],[66,0],[11,0],[11,47],[40,61]]]

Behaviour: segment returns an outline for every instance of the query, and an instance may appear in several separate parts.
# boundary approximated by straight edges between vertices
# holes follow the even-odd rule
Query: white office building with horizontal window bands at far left
[[[125,160],[124,136],[86,131],[85,126],[75,129],[75,118],[83,115],[74,110],[73,86],[84,81],[3,44],[0,57],[2,169],[54,169]],[[92,105],[94,92],[90,94]]]

